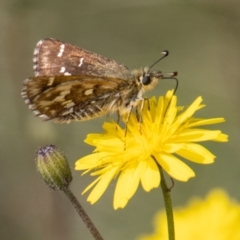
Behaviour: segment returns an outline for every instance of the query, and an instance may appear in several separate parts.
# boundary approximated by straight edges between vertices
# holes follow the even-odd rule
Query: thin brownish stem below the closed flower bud
[[[83,222],[93,235],[94,239],[96,240],[103,240],[102,236],[98,232],[97,228],[94,226],[91,219],[88,217],[87,213],[84,211],[81,204],[78,202],[77,198],[73,195],[69,188],[64,188],[63,192],[67,195],[68,199],[73,204],[74,208],[76,209],[78,215],[82,218]]]

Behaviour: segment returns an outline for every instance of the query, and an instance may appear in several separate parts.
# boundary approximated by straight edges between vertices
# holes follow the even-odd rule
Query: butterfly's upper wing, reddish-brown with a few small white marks
[[[35,76],[106,76],[132,78],[122,64],[52,38],[40,40],[34,49]]]

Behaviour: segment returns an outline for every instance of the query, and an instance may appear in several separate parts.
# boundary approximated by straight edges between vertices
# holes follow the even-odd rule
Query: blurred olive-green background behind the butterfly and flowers
[[[122,210],[113,210],[115,182],[94,205],[83,189],[92,181],[74,171],[74,163],[93,149],[83,140],[101,132],[106,117],[58,125],[35,117],[21,99],[22,82],[33,76],[37,41],[57,38],[128,66],[151,65],[162,50],[168,58],[155,69],[178,71],[180,105],[197,96],[206,108],[200,117],[224,117],[212,126],[229,134],[228,143],[205,144],[216,156],[212,165],[187,162],[196,177],[175,182],[173,205],[204,197],[215,187],[240,202],[240,2],[223,0],[2,0],[0,3],[0,216],[1,239],[92,239],[61,192],[45,186],[35,169],[35,151],[55,144],[67,155],[72,191],[106,240],[132,240],[150,232],[163,208],[160,189],[137,193]],[[162,81],[147,96],[165,94],[174,81]],[[115,118],[116,119],[116,118]],[[197,216],[196,216],[197,217]]]

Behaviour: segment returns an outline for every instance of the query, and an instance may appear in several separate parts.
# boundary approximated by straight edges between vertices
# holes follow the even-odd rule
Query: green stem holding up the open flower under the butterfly
[[[173,210],[172,210],[172,200],[170,195],[170,190],[167,187],[166,180],[163,175],[163,170],[161,166],[159,166],[160,174],[161,174],[161,187],[162,193],[164,197],[166,215],[167,215],[167,223],[168,223],[168,239],[174,240],[175,239],[175,232],[174,232],[174,219],[173,219]]]

